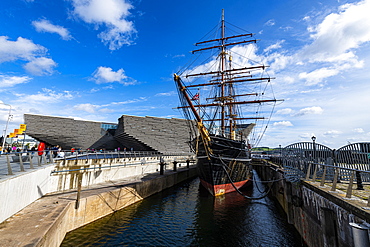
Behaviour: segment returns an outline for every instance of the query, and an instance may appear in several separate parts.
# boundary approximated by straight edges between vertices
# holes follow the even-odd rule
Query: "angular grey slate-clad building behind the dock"
[[[27,135],[63,149],[190,152],[189,121],[122,115],[117,123],[24,114]]]

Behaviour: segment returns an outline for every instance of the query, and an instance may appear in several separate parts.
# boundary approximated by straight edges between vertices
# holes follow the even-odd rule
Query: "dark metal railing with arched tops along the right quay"
[[[338,150],[314,142],[294,143],[269,159],[284,168],[284,176],[290,182],[311,180],[320,182],[320,186],[330,182],[331,191],[336,191],[341,181],[348,182],[346,198],[352,197],[355,184],[357,190],[363,190],[363,184],[370,183],[370,142],[349,144]]]

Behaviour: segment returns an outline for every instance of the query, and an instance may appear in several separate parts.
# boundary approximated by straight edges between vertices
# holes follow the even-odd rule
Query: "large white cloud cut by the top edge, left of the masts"
[[[117,50],[123,45],[132,44],[132,35],[136,33],[134,25],[126,18],[133,6],[126,0],[72,0],[74,15],[83,21],[103,25],[106,30],[99,38],[109,46],[110,50]]]

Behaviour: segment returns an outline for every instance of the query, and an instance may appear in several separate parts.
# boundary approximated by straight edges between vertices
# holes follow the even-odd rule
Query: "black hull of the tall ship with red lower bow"
[[[214,196],[233,192],[250,180],[251,168],[245,142],[211,136],[210,151],[198,145],[197,168],[202,185]]]

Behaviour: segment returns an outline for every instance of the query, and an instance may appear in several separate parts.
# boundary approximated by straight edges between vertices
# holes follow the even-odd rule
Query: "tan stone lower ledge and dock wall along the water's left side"
[[[83,190],[78,204],[76,192],[45,196],[0,225],[0,246],[60,246],[67,232],[195,176],[192,166],[136,181],[107,183]]]

